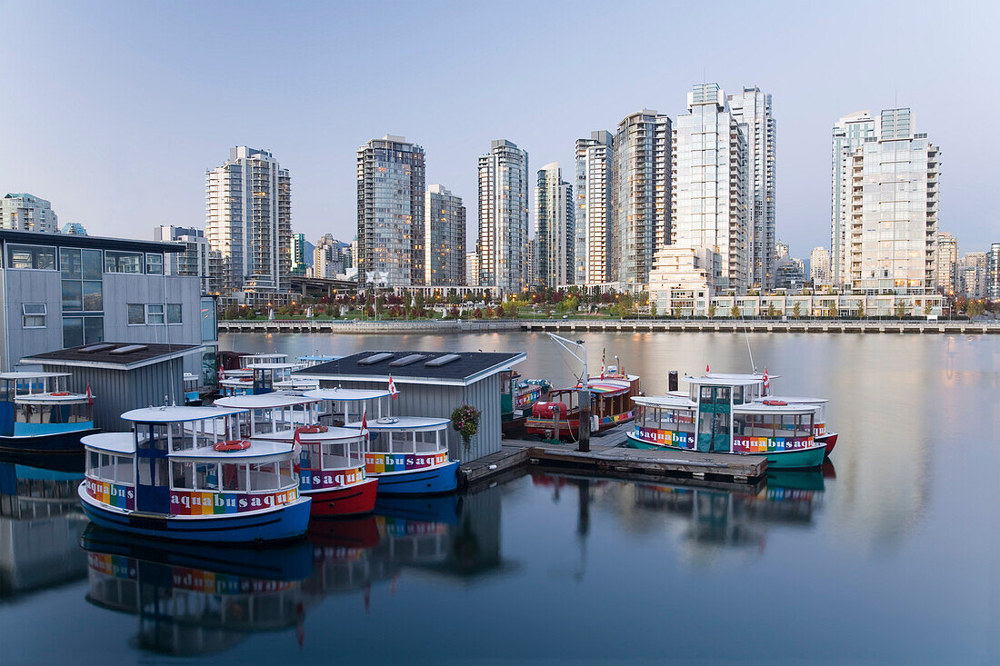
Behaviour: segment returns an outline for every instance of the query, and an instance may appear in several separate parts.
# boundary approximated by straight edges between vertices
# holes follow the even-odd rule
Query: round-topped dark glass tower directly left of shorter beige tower
[[[358,281],[424,284],[424,149],[386,135],[358,148]]]

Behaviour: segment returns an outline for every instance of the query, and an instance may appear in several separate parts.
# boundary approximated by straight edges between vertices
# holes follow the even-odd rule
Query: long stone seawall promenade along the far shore
[[[251,319],[219,322],[223,333],[474,333],[491,331],[695,333],[1000,334],[1000,321],[899,319],[493,319],[361,321]]]

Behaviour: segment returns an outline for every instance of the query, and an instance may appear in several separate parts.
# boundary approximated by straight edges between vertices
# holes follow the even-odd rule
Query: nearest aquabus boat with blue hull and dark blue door
[[[297,452],[241,439],[245,409],[149,407],[121,418],[132,432],[83,438],[78,494],[99,527],[146,537],[261,543],[305,534],[310,500],[299,493]]]

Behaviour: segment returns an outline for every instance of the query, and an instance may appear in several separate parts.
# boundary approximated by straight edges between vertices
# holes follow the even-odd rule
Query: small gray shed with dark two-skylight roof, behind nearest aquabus
[[[45,372],[68,372],[66,388],[94,395],[94,426],[127,431],[121,414],[130,409],[184,404],[184,358],[201,356],[201,345],[102,342],[35,354],[25,363]]]

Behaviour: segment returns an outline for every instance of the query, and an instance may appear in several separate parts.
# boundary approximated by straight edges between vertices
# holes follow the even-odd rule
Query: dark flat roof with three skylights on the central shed
[[[387,356],[374,363],[364,363],[376,355]],[[445,356],[458,358],[442,365],[427,365]],[[417,356],[421,358],[416,358]],[[293,375],[320,379],[353,379],[359,381],[394,381],[405,384],[450,384],[466,386],[483,377],[500,372],[526,358],[524,352],[466,352],[466,351],[364,351],[351,356],[296,370]],[[414,357],[405,365],[392,365],[394,361]]]

